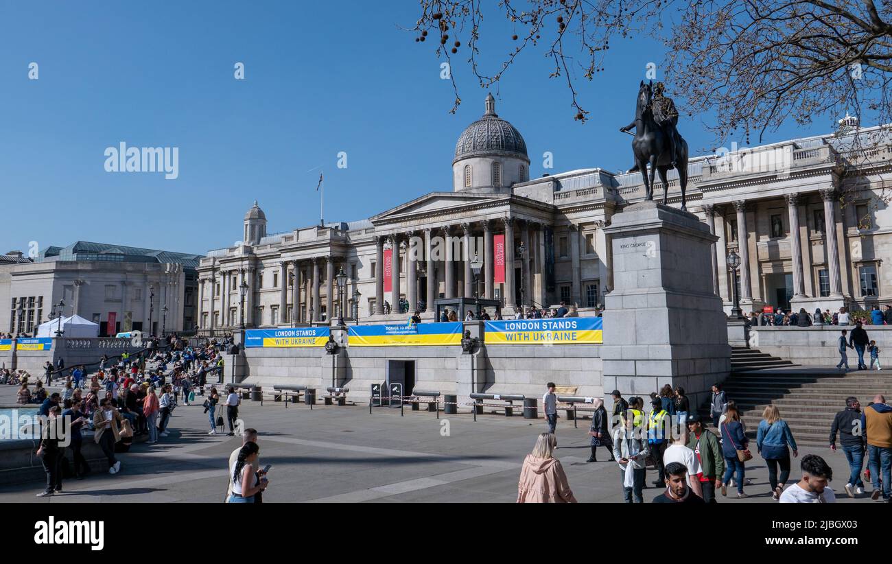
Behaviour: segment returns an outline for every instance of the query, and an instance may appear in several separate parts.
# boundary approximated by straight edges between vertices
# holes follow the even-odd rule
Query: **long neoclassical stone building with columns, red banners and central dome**
[[[735,279],[744,311],[892,303],[890,147],[885,129],[847,117],[826,136],[691,158],[688,210],[719,237],[713,278],[725,310]],[[506,314],[563,301],[594,315],[614,283],[603,228],[644,197],[641,175],[592,168],[531,179],[529,165],[524,138],[489,95],[458,137],[450,191],[368,220],[275,235],[255,202],[244,242],[200,261],[200,331],[233,331],[243,320],[248,328],[391,323],[408,317],[400,303],[432,320],[437,298],[475,295],[501,300]],[[681,201],[677,183],[671,174],[670,205]],[[731,252],[741,260],[737,277],[725,266]]]

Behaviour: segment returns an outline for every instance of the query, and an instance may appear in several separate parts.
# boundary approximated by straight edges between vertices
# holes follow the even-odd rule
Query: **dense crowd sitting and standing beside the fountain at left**
[[[191,345],[178,336],[167,337],[163,343],[153,339],[145,351],[135,355],[122,352],[114,362],[103,355],[92,373],[85,365],[65,369],[61,358],[56,366],[47,362],[47,382],[52,382],[53,377],[62,378],[61,392],[47,392],[41,379],[37,379],[32,392],[29,376],[22,377],[17,402],[39,404],[39,414],[47,418],[37,449],[45,470],[46,488],[38,496],[62,491],[66,473],[62,466],[67,463],[72,464],[71,474],[78,479],[89,473],[81,454],[85,433],[92,433],[102,449],[110,474],[120,471],[116,454],[128,452],[134,437],[147,435],[147,442],[155,444],[159,438],[169,436],[173,411],[180,402],[195,402],[196,395],[204,396],[209,434],[216,434],[220,422],[215,419],[219,393],[208,384],[208,379],[223,369],[223,352],[230,344],[231,337],[201,345]],[[230,388],[229,392],[227,405],[237,405],[235,390]],[[231,400],[233,395],[235,401]],[[230,435],[234,435],[235,418],[237,407],[230,413]],[[62,447],[60,437],[65,433],[59,430],[66,420],[70,444]]]

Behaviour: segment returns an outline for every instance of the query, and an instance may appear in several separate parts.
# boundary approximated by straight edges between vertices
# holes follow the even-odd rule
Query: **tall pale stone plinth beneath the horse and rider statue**
[[[731,369],[727,318],[714,294],[711,245],[696,216],[636,203],[605,228],[614,290],[605,298],[604,389],[645,397],[682,386],[691,409]]]

